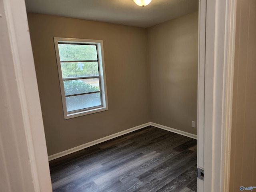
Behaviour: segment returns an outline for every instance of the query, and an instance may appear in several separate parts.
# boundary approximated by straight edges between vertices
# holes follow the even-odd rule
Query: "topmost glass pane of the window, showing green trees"
[[[96,45],[58,44],[60,61],[97,60]]]

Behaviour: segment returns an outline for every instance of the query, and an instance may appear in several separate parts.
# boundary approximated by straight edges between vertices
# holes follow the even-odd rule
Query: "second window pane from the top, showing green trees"
[[[98,76],[98,62],[62,62],[62,78]]]

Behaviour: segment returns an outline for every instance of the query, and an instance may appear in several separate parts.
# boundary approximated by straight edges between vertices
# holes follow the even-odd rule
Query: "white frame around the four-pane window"
[[[97,45],[97,47],[98,47],[98,51],[97,51],[98,52],[97,53],[98,54],[98,68],[99,68],[99,78],[100,78],[100,94],[101,94],[101,98],[102,98],[102,106],[99,106],[96,108],[84,109],[79,112],[72,112],[72,113],[67,112],[66,97],[65,97],[64,83],[63,83],[62,71],[61,71],[61,65],[60,65],[60,55],[59,55],[58,43],[74,43],[74,44],[77,43],[77,44]],[[55,46],[58,74],[59,74],[59,80],[60,80],[60,91],[61,91],[61,97],[62,97],[64,119],[75,118],[78,116],[83,116],[83,115],[88,115],[88,114],[108,110],[103,41],[102,40],[92,40],[92,39],[54,37],[54,46]]]

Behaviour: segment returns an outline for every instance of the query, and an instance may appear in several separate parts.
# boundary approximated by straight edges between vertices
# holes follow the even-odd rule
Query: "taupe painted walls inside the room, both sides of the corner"
[[[198,12],[148,30],[34,13],[28,23],[48,155],[150,121],[196,134]],[[103,40],[108,111],[64,120],[53,37]]]

